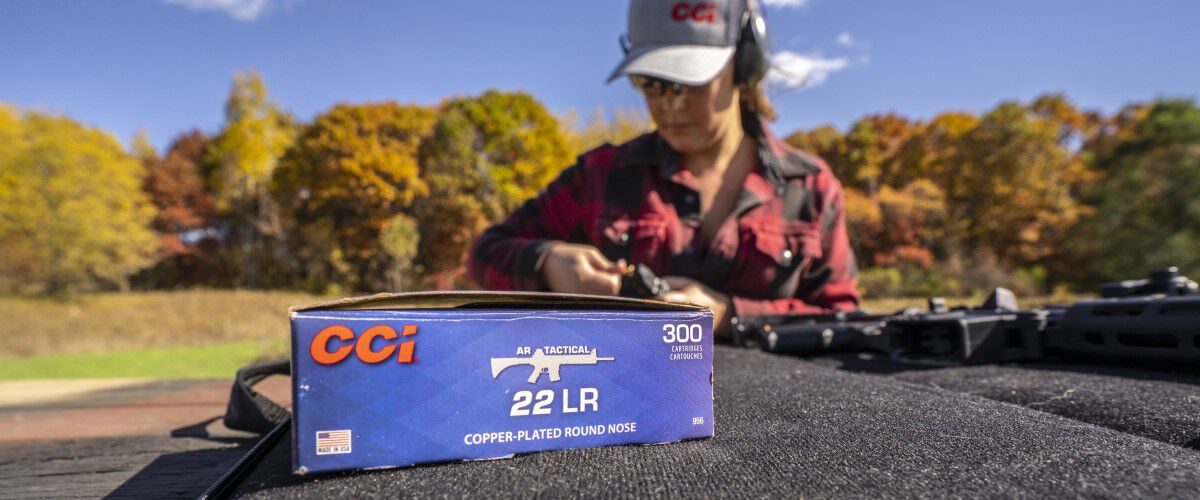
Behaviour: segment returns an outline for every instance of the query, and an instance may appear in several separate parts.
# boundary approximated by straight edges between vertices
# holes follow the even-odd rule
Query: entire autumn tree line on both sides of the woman
[[[475,235],[644,114],[552,115],[523,92],[337,104],[311,122],[234,78],[224,121],[126,150],[0,104],[0,293],[470,287]],[[1200,276],[1200,108],[1081,110],[1060,95],[930,120],[865,116],[787,140],[846,186],[870,296]]]

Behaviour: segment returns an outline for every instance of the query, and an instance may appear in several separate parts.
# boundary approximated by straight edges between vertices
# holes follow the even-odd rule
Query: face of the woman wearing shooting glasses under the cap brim
[[[738,90],[732,65],[712,82],[683,86],[682,96],[670,89],[642,92],[659,134],[682,155],[709,151],[738,124]]]

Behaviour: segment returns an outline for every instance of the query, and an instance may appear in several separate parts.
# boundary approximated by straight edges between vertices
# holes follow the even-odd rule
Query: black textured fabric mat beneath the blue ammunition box
[[[1048,366],[905,371],[848,356],[814,362],[718,347],[716,436],[710,440],[298,477],[289,472],[286,438],[236,493],[1200,495],[1200,451],[1187,441],[1200,428],[1194,379]],[[1162,420],[1136,423],[1154,415]],[[1103,427],[1109,423],[1114,428]]]

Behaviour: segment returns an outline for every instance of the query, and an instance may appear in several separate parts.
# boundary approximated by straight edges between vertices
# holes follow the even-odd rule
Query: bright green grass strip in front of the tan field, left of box
[[[229,379],[238,368],[287,353],[274,341],[238,341],[112,353],[54,354],[0,362],[0,380],[152,378]]]

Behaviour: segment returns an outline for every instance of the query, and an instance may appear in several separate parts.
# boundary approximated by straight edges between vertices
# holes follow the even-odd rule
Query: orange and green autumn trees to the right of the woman
[[[870,115],[787,140],[845,185],[862,282],[876,295],[1091,291],[1170,265],[1200,276],[1194,100],[1103,114],[1051,94],[982,115]]]

